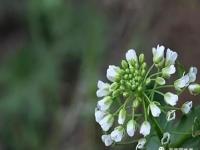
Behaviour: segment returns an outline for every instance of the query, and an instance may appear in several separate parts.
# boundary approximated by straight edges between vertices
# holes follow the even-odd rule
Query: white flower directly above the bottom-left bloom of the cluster
[[[111,114],[107,114],[106,116],[103,117],[103,119],[99,122],[99,124],[101,125],[101,128],[103,129],[103,131],[108,131],[114,122],[114,118]]]

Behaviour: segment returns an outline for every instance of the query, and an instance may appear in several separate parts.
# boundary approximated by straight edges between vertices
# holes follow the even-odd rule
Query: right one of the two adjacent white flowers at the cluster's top
[[[166,53],[165,66],[174,65],[177,57],[177,52],[174,52],[168,48]]]

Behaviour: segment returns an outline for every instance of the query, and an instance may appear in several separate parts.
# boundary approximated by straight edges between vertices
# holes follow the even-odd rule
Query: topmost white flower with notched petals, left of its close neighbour
[[[153,62],[158,64],[159,62],[161,62],[164,59],[164,50],[165,47],[164,46],[157,46],[157,48],[152,49],[152,53],[153,53]]]

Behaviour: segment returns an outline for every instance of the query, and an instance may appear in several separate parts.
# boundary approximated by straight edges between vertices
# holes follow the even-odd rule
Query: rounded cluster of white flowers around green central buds
[[[144,54],[137,55],[135,50],[128,50],[121,66],[108,67],[106,76],[110,83],[98,81],[96,95],[101,100],[95,108],[95,119],[104,131],[102,141],[106,146],[121,142],[125,136],[131,138],[138,130],[143,137],[138,140],[136,149],[142,149],[151,132],[150,117],[159,117],[162,112],[166,120],[171,121],[178,110],[187,114],[192,101],[185,102],[180,108],[175,107],[179,95],[187,87],[192,95],[200,93],[200,85],[194,83],[196,67],[191,67],[173,84],[167,84],[166,81],[176,72],[178,55],[170,49],[165,55],[165,47],[159,45],[152,49],[152,53],[153,65],[147,68]],[[164,88],[173,88],[174,92],[163,93]],[[163,96],[163,101],[156,99],[155,94]],[[163,133],[161,143],[165,145],[169,139],[170,133]]]

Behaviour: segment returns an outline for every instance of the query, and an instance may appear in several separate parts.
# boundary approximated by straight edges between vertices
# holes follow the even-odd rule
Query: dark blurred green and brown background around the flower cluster
[[[0,150],[115,149],[94,121],[97,80],[157,44],[200,67],[199,0],[0,0]]]

